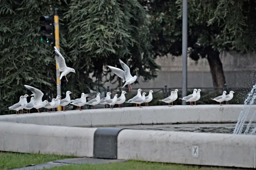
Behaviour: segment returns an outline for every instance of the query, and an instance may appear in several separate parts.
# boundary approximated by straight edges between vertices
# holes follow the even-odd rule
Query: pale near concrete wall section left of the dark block
[[[0,122],[0,151],[92,157],[96,129]]]

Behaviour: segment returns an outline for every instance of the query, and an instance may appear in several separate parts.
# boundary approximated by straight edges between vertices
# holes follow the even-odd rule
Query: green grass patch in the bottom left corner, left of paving
[[[38,165],[65,158],[74,157],[0,151],[0,169],[20,168],[31,164]]]

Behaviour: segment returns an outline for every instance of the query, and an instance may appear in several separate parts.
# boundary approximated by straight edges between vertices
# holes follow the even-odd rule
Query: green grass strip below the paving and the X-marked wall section
[[[51,170],[231,170],[231,168],[192,166],[181,164],[152,163],[141,161],[127,161],[100,165],[69,165],[53,167]]]

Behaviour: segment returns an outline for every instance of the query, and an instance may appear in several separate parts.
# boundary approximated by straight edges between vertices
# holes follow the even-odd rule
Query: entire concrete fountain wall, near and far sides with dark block
[[[242,108],[177,105],[3,115],[0,150],[255,168],[256,135],[72,127],[236,122]],[[248,118],[255,109],[252,105]]]

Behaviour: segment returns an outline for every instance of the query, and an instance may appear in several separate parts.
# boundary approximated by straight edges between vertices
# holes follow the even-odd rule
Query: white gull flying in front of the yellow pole
[[[66,66],[64,57],[60,54],[60,51],[55,46],[54,46],[54,49],[55,49],[55,60],[57,61],[59,71],[62,72],[60,74],[60,80],[63,76],[66,77],[66,75],[70,72],[76,73],[75,69]],[[66,77],[66,80],[68,81],[67,77]]]

